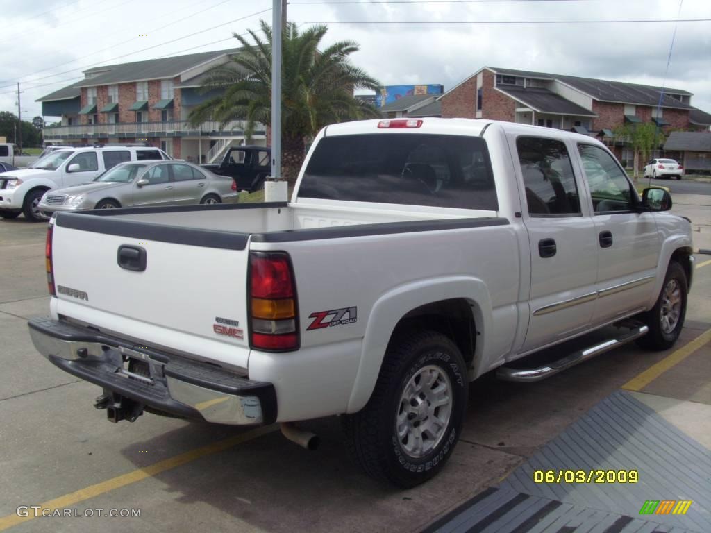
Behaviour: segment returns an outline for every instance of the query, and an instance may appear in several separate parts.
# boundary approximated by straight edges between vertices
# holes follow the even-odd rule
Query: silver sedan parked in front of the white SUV
[[[48,190],[39,203],[44,217],[55,211],[214,204],[237,201],[232,178],[185,161],[130,161],[94,181]]]

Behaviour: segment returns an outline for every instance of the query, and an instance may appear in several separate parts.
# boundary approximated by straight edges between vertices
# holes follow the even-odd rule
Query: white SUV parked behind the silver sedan
[[[0,217],[20,213],[31,222],[43,217],[38,205],[50,189],[87,183],[124,161],[170,159],[151,146],[66,148],[47,154],[33,168],[0,173]]]

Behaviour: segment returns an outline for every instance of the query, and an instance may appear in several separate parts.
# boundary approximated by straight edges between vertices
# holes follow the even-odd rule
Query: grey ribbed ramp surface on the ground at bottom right
[[[637,470],[638,483],[535,483],[535,470]],[[640,515],[647,500],[691,500],[685,515]],[[711,451],[629,392],[597,404],[428,533],[711,532]]]

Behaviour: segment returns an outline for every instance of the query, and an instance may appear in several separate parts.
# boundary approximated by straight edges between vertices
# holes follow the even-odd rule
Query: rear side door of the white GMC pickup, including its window
[[[530,316],[523,351],[587,328],[595,306],[597,240],[565,143],[515,139],[531,254]]]

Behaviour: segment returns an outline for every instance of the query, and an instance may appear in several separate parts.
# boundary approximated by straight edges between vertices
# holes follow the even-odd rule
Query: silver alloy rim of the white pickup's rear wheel
[[[439,445],[451,419],[452,387],[447,372],[427,365],[402,389],[395,431],[402,451],[422,458]]]

